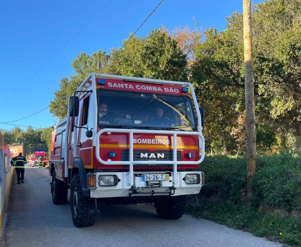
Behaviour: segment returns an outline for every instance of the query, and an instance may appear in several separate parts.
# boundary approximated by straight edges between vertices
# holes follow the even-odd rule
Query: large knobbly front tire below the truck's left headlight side
[[[71,214],[76,227],[93,226],[96,222],[94,201],[82,194],[79,174],[76,174],[70,186]]]

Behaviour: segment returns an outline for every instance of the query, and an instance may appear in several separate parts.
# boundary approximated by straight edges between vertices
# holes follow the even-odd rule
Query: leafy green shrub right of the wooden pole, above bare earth
[[[253,180],[256,205],[266,199],[272,207],[301,210],[301,158],[290,152],[261,156]]]

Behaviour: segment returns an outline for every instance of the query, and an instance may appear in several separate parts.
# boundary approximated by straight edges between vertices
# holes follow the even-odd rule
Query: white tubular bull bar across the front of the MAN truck
[[[104,161],[100,157],[99,149],[100,149],[100,136],[103,133],[129,133],[129,161]],[[98,131],[96,135],[96,158],[97,160],[104,165],[129,165],[129,185],[134,185],[134,167],[135,164],[149,164],[150,161],[134,161],[133,153],[134,153],[134,143],[133,143],[133,135],[135,134],[156,134],[156,135],[173,135],[173,160],[172,161],[151,161],[151,164],[169,164],[173,165],[173,183],[177,184],[177,165],[182,164],[191,164],[196,165],[200,164],[205,156],[205,142],[204,137],[199,132],[192,131],[170,131],[170,130],[133,130],[133,129],[115,129],[115,128],[105,128]],[[177,161],[177,134],[178,135],[196,135],[199,136],[199,147],[201,148],[201,157],[198,161]]]

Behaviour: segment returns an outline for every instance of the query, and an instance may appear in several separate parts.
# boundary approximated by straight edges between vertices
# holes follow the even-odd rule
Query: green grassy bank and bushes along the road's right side
[[[289,151],[257,157],[251,205],[246,208],[246,158],[207,155],[196,216],[255,236],[301,246],[301,157]],[[191,199],[191,202],[194,202]]]

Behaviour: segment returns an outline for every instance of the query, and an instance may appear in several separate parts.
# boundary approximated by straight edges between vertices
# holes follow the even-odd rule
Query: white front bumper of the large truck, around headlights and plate
[[[153,172],[154,174],[156,172]],[[197,194],[200,192],[200,189],[203,186],[203,172],[177,172],[178,183],[173,184],[172,178],[173,173],[170,174],[169,181],[162,181],[158,183],[157,181],[153,183],[154,187],[151,187],[150,182],[142,181],[142,177],[139,176],[141,173],[135,173],[134,176],[134,186],[130,186],[130,176],[128,172],[116,172],[116,173],[94,173],[95,174],[95,184],[97,188],[88,188],[90,189],[90,197],[92,198],[110,198],[110,197],[128,197],[128,196],[151,196],[151,195],[191,195]],[[183,180],[186,174],[200,174],[199,184],[189,185]],[[116,186],[108,188],[100,188],[98,185],[98,176],[99,175],[116,175],[118,177],[118,183]],[[172,189],[171,189],[172,188]],[[175,189],[173,189],[175,188]],[[172,191],[172,193],[170,193]],[[134,192],[134,193],[133,193]]]

